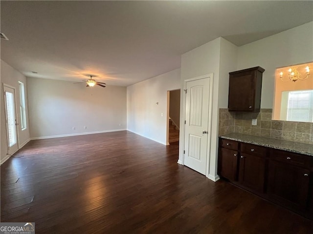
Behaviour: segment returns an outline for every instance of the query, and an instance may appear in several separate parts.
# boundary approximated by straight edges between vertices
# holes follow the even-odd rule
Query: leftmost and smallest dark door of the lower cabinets
[[[237,162],[238,152],[235,150],[228,150],[221,148],[219,166],[220,176],[223,176],[229,180],[237,180]]]

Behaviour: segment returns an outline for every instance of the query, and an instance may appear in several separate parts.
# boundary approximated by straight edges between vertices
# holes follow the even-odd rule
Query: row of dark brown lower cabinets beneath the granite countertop
[[[313,156],[220,138],[218,174],[313,219]]]

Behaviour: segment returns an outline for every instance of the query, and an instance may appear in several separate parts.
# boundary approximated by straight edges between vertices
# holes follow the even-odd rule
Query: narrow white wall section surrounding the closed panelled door
[[[210,169],[206,175],[210,179],[216,180],[217,172],[215,170],[215,161],[217,160],[217,136],[218,136],[218,98],[219,98],[219,72],[220,72],[220,47],[221,38],[214,39],[196,49],[193,49],[181,56],[181,79],[180,79],[180,129],[183,126],[183,99],[184,99],[184,80],[195,78],[202,75],[213,73],[213,112],[212,112],[212,129],[211,145],[209,152]],[[183,139],[183,131],[180,131],[179,138]],[[183,140],[179,141],[179,163],[183,158]],[[211,163],[212,162],[212,163]],[[212,169],[211,169],[212,168]]]

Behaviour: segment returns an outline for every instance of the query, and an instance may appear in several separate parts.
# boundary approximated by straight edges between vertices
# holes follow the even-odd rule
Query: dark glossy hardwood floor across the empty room
[[[1,222],[36,234],[312,234],[313,222],[122,131],[32,140],[1,165]]]

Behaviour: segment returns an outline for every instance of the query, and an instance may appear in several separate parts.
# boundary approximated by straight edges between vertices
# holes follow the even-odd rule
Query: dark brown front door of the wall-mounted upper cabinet
[[[255,82],[255,71],[229,76],[228,110],[254,110]]]

